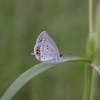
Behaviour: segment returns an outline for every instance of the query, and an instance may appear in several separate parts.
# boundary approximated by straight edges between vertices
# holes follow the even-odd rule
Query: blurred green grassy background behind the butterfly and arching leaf
[[[18,76],[40,63],[31,52],[42,31],[61,53],[87,57],[88,0],[0,0],[0,97]],[[59,64],[30,80],[12,100],[82,100],[84,73],[81,63]],[[99,84],[98,78],[95,100],[100,98]]]

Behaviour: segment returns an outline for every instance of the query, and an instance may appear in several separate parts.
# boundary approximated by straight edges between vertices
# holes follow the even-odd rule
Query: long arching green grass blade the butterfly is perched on
[[[20,75],[7,89],[7,91],[4,93],[4,95],[1,97],[1,100],[10,100],[16,92],[25,84],[27,83],[31,78],[34,76],[42,73],[43,71],[53,67],[54,65],[57,65],[62,62],[66,61],[72,61],[72,62],[90,62],[89,59],[80,58],[80,57],[63,57],[59,59],[59,61],[48,61],[48,62],[42,62],[40,64],[37,64],[30,68],[29,70],[25,71],[22,75]]]

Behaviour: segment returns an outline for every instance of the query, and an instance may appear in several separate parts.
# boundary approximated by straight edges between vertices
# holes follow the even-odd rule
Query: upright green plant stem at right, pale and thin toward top
[[[88,47],[87,47],[87,56],[92,60],[94,49],[95,49],[95,37],[93,34],[93,4],[92,0],[88,0],[89,3],[89,39],[88,39]],[[84,97],[83,100],[93,100],[94,98],[94,77],[93,77],[93,68],[89,65],[86,66],[86,72],[85,72],[85,88],[84,88]]]

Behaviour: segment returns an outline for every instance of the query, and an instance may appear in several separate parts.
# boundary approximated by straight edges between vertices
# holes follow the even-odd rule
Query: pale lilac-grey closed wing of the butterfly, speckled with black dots
[[[40,61],[48,61],[52,59],[57,59],[60,56],[59,50],[46,31],[43,31],[36,40],[36,45],[34,47],[34,53],[37,48],[40,48],[40,55],[35,55]]]

